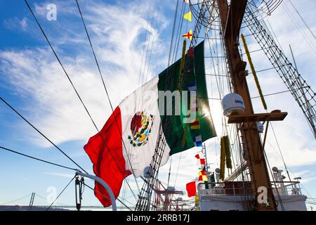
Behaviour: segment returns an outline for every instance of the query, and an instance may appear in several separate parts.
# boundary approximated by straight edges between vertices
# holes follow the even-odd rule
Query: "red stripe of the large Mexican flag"
[[[126,162],[122,153],[121,110],[119,107],[114,110],[100,133],[89,139],[84,150],[93,163],[93,172],[110,186],[114,197],[117,198],[123,180],[131,174],[129,170],[125,169]],[[97,182],[95,183],[94,194],[104,207],[111,205],[110,195]]]

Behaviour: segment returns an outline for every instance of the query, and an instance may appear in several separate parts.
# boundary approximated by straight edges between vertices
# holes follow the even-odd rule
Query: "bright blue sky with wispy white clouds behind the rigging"
[[[316,21],[313,10],[316,7],[315,1],[293,2],[315,32]],[[58,9],[56,21],[46,20],[46,6],[50,3],[56,4]],[[101,70],[105,75],[112,104],[117,105],[122,98],[140,85],[138,75],[142,65],[144,44],[147,46],[148,43],[154,43],[150,46],[151,63],[150,68],[145,68],[145,71],[148,71],[145,80],[149,80],[166,68],[176,1],[81,0],[79,3],[100,60]],[[30,0],[29,4],[91,111],[93,119],[98,127],[103,126],[110,115],[110,108],[75,1]],[[284,3],[268,18],[268,21],[287,56],[290,56],[288,45],[291,44],[296,54],[298,69],[315,90],[315,75],[312,74],[316,70],[315,52],[310,49],[287,11],[298,20],[289,3]],[[305,29],[303,32],[308,35],[308,30]],[[48,49],[24,1],[0,1],[0,37],[0,96],[25,115],[79,165],[92,173],[91,162],[84,153],[83,146],[96,131],[53,53]],[[315,44],[315,39],[312,41]],[[249,47],[258,49],[251,39],[249,39]],[[270,68],[268,62],[263,60],[264,57],[254,54],[257,70]],[[261,74],[259,79],[265,94],[286,90],[276,72]],[[251,95],[257,96],[251,78],[249,78],[249,86],[251,86]],[[289,112],[289,119],[282,124],[275,124],[275,131],[279,134],[279,144],[291,171],[303,177],[305,189],[315,197],[316,144],[301,110],[290,94],[267,97],[266,101],[271,110],[279,108]],[[213,102],[211,105],[214,107],[212,110],[215,120],[214,118],[221,113],[220,106]],[[260,102],[254,101],[254,107],[260,111]],[[0,146],[74,167],[64,155],[2,103],[0,103],[0,120]],[[216,120],[215,123],[220,127],[220,122]],[[216,129],[220,128],[216,127]],[[209,159],[214,164],[212,168],[214,169],[217,160],[213,140],[207,145]],[[275,149],[277,149],[276,143],[270,136],[270,148],[267,150],[270,153],[270,161],[281,168],[282,162],[275,154]],[[180,190],[185,190],[185,183],[194,179],[197,174],[195,153],[195,150],[191,150],[182,155],[177,182]],[[175,168],[178,160],[179,156],[173,159]],[[48,195],[46,190],[50,186],[55,186],[59,192],[73,175],[72,171],[34,162],[4,151],[0,151],[0,169],[0,193],[2,193],[0,203],[7,203],[32,192],[45,197]],[[162,167],[163,180],[166,180],[165,174],[168,169],[169,164]],[[187,171],[192,172],[187,174]],[[171,179],[174,179],[174,176],[175,172]],[[133,179],[129,181],[133,184]],[[87,182],[93,185],[92,182]],[[58,201],[73,205],[73,192],[74,187],[70,186]],[[127,196],[129,195],[131,194],[128,193]],[[20,203],[27,204],[28,200],[26,198]],[[36,199],[35,202],[37,200],[39,200],[38,204],[47,204],[45,200]],[[90,190],[84,193],[84,204],[100,205]]]

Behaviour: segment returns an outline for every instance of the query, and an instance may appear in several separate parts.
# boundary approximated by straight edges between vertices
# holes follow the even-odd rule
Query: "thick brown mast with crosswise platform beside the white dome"
[[[258,196],[258,188],[264,186],[268,190],[268,205],[259,204],[255,199],[255,210],[277,210],[275,204],[275,197],[272,192],[270,176],[268,167],[265,162],[264,148],[257,130],[256,121],[268,121],[270,118],[275,117],[275,113],[265,113],[261,119],[254,114],[254,108],[251,104],[251,97],[249,94],[248,85],[246,82],[246,62],[238,51],[238,40],[242,19],[246,9],[247,0],[231,0],[230,7],[227,0],[216,0],[218,3],[218,11],[220,14],[221,27],[223,39],[225,42],[225,53],[228,59],[230,69],[230,78],[234,92],[242,96],[244,99],[245,112],[235,118],[229,118],[228,122],[238,123],[239,129],[242,134],[242,143],[244,149],[245,160],[249,168],[251,176],[251,184],[254,190],[254,195]],[[283,120],[287,113],[278,114]],[[251,118],[251,120],[249,120]],[[234,120],[235,119],[235,120]],[[277,120],[277,119],[276,119]]]

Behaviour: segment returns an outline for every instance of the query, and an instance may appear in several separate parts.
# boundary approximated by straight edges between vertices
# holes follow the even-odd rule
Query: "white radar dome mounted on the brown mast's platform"
[[[244,100],[239,94],[231,93],[224,96],[222,100],[224,115],[228,116],[232,113],[244,113]]]

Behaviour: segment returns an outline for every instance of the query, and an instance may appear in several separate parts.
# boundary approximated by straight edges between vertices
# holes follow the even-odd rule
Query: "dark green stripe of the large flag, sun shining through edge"
[[[187,56],[186,56],[187,57]],[[187,59],[188,60],[188,59]],[[193,71],[188,71],[190,68],[194,68]],[[204,69],[204,42],[195,47],[194,58],[190,60],[190,65],[185,68],[188,71],[184,74],[182,83],[182,91],[188,91],[187,86],[196,83],[197,85],[197,117],[199,119],[200,129],[190,129],[188,125],[185,145],[182,146],[183,134],[186,124],[183,123],[183,119],[187,117],[181,112],[180,115],[174,115],[175,112],[175,99],[173,98],[172,105],[166,105],[164,101],[165,113],[160,115],[162,120],[162,129],[166,136],[166,141],[171,148],[170,155],[174,153],[180,153],[183,150],[187,150],[195,146],[193,139],[196,136],[201,135],[202,141],[206,141],[216,136],[216,131],[213,126],[213,120],[211,118],[209,99],[206,89],[205,69]],[[178,89],[180,73],[180,60],[171,65],[169,68],[159,74],[158,91],[176,91]],[[188,98],[190,100],[190,97]],[[166,100],[166,99],[165,99]],[[187,103],[183,103],[187,106]],[[173,115],[166,115],[166,108],[172,107]],[[180,106],[181,109],[181,106]],[[192,121],[194,122],[194,121]]]

